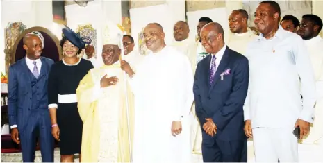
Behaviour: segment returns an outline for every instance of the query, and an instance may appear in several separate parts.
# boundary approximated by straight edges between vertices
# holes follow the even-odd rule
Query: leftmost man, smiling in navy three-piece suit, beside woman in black
[[[39,133],[42,162],[53,162],[53,136],[47,99],[47,79],[53,60],[40,57],[43,37],[24,36],[26,57],[9,67],[8,118],[11,137],[21,143],[23,162],[34,162]]]

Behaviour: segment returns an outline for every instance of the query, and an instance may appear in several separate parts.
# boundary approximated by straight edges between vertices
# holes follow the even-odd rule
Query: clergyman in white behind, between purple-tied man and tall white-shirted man
[[[248,13],[246,10],[233,10],[229,16],[230,36],[229,48],[245,55],[248,44],[255,40],[257,35],[248,28]]]

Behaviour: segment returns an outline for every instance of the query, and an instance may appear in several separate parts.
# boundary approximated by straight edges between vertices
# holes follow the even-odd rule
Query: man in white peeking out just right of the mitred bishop
[[[131,67],[135,69],[135,67],[137,67],[137,65],[140,64],[140,62],[144,58],[144,55],[141,55],[139,51],[133,49],[133,47],[135,47],[135,42],[131,35],[124,35],[124,37],[122,38],[122,43],[124,44],[123,60],[129,62]]]

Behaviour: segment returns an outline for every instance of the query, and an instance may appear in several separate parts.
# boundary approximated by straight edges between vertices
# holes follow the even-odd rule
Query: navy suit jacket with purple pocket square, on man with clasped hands
[[[194,77],[195,110],[201,128],[206,118],[217,126],[216,139],[235,141],[245,139],[243,105],[249,85],[249,63],[245,56],[228,46],[217,67],[213,85],[210,86],[211,55],[197,64]],[[222,72],[230,69],[230,73]],[[202,128],[203,139],[210,138]]]

